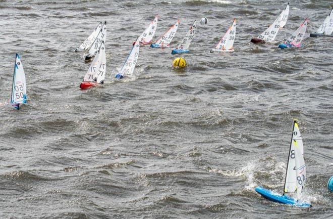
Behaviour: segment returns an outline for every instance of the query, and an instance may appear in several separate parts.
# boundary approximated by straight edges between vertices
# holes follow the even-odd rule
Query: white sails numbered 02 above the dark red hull
[[[287,5],[287,7],[288,7],[288,13],[289,13],[289,5]],[[287,9],[287,7],[286,7],[286,9]],[[279,17],[276,18],[275,21],[258,36],[259,39],[265,40],[267,42],[274,41],[276,35],[278,35],[280,27],[284,27],[286,24],[285,21],[287,22],[288,14],[287,14],[287,19],[284,19],[284,16],[286,16],[285,10],[283,10],[281,12],[281,14],[279,15]]]

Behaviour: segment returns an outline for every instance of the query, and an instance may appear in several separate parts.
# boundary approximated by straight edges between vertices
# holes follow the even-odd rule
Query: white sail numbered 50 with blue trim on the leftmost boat
[[[26,103],[26,102],[27,102],[27,91],[26,91],[23,64],[19,54],[16,54],[11,103]]]

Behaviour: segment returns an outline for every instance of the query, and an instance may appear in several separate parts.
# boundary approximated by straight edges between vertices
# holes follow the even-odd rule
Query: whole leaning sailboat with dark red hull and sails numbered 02
[[[286,8],[281,12],[278,18],[258,37],[254,37],[251,39],[253,43],[265,43],[265,42],[273,42],[276,35],[278,35],[279,29],[286,25],[289,15],[289,3]]]

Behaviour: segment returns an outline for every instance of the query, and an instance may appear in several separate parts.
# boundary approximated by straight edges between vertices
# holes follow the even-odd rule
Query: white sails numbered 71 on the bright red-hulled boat
[[[106,72],[105,45],[101,43],[100,49],[92,61],[83,81],[103,83]]]

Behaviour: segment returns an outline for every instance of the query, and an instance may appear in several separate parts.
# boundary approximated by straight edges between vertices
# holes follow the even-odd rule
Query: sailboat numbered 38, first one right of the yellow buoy
[[[219,40],[216,47],[210,50],[213,52],[234,52],[234,41],[236,37],[236,18],[227,30],[226,34]]]

